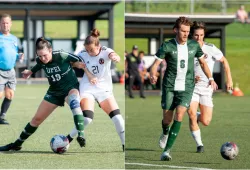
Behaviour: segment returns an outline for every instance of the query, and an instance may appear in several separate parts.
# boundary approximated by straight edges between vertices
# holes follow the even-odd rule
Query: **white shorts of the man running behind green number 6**
[[[192,101],[204,106],[213,107],[213,89],[210,86],[195,86]]]

